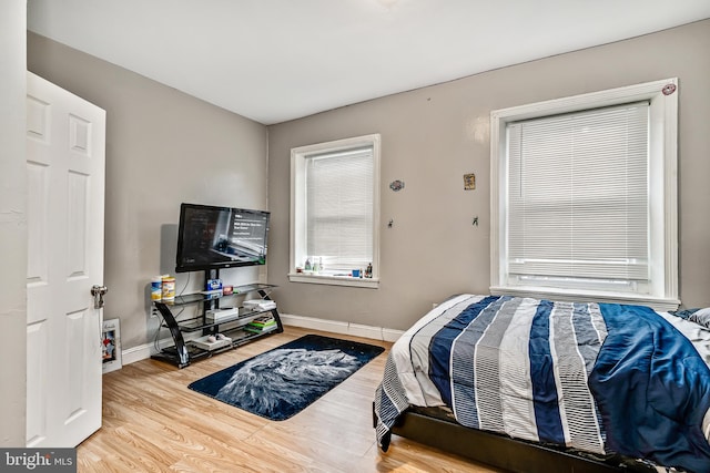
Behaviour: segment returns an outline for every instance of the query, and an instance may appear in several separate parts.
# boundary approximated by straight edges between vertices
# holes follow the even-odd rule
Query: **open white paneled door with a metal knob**
[[[27,446],[75,446],[101,426],[105,112],[27,80]]]

